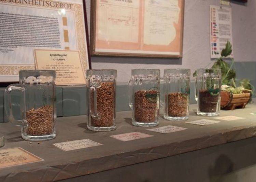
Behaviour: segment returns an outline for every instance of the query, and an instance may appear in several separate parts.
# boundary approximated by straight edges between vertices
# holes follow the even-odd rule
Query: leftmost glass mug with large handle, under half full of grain
[[[9,122],[22,128],[22,138],[28,141],[54,139],[56,118],[56,73],[53,70],[19,71],[19,84],[5,89],[4,107]],[[21,120],[13,116],[12,92],[19,91]]]

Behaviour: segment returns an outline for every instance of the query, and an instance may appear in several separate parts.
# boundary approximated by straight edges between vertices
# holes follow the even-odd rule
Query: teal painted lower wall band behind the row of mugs
[[[237,78],[248,78],[256,86],[256,63],[255,62],[236,62]],[[128,79],[128,78],[127,78]],[[162,90],[162,84],[161,84]],[[195,104],[195,82],[191,78],[190,84],[190,103]],[[8,122],[4,116],[3,103],[4,88],[0,88],[0,122]],[[116,87],[116,109],[117,111],[130,110],[128,106],[128,86],[127,83],[118,83]],[[163,98],[163,97],[161,97]],[[16,118],[20,117],[18,93],[13,94],[13,109]],[[56,89],[57,116],[74,116],[88,113],[87,90],[86,86],[63,86]]]

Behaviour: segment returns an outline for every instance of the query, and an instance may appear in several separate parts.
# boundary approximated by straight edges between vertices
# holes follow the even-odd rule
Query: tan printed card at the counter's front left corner
[[[44,161],[23,148],[8,148],[0,150],[0,168]]]

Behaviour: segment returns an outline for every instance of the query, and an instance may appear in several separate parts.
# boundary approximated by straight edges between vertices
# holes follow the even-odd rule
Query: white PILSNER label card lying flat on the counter
[[[70,151],[70,150],[76,150],[81,148],[95,147],[102,144],[94,142],[90,139],[82,139],[82,140],[74,140],[69,142],[54,143],[53,145],[55,145],[61,150]]]

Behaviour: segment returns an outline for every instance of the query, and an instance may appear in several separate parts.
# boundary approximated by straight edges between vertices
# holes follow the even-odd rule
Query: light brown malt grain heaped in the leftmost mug
[[[26,133],[32,136],[49,135],[54,130],[53,107],[43,106],[26,112]]]

